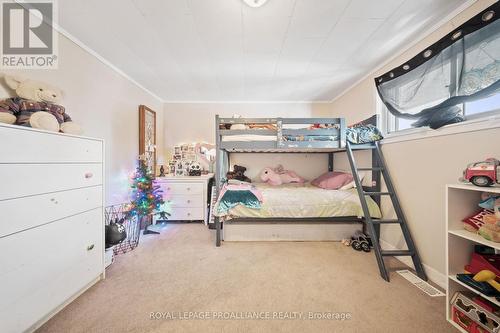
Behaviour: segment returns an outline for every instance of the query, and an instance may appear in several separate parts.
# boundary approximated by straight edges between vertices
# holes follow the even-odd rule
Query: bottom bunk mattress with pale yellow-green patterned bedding
[[[309,183],[281,186],[263,183],[254,185],[262,191],[263,203],[260,209],[237,205],[220,216],[226,220],[235,217],[259,219],[363,216],[363,209],[356,189],[325,190]],[[367,197],[367,203],[370,215],[374,218],[381,218],[380,208],[375,201]]]

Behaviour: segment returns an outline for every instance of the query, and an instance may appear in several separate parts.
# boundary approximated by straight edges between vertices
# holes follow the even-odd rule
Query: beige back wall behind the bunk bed
[[[215,115],[232,117],[323,117],[329,114],[324,103],[166,103],[165,149],[170,153],[179,143],[215,142]],[[306,179],[328,170],[325,154],[231,154],[231,165],[247,167],[247,175],[256,179],[266,166],[282,164]]]

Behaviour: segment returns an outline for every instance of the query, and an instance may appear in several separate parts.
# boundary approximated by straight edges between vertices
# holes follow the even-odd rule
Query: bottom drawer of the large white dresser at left
[[[22,332],[103,272],[102,209],[0,239],[0,331]]]

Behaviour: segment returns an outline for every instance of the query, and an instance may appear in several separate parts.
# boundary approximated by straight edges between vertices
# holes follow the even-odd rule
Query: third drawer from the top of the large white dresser
[[[3,200],[0,238],[101,206],[102,186]]]

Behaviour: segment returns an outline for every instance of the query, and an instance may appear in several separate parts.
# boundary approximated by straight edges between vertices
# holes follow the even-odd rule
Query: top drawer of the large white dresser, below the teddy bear
[[[46,133],[30,128],[0,127],[0,163],[102,163],[100,140]]]

